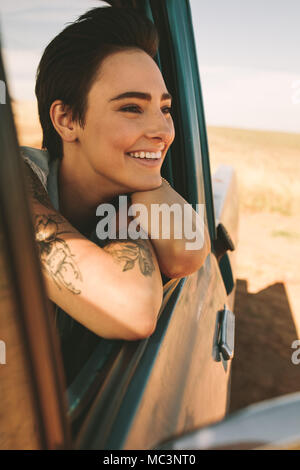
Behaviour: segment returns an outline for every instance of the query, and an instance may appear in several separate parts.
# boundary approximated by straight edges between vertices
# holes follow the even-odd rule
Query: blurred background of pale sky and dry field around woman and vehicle
[[[212,172],[240,193],[231,410],[299,390],[299,0],[190,0]],[[35,73],[47,43],[97,0],[0,0],[21,145],[40,147]]]

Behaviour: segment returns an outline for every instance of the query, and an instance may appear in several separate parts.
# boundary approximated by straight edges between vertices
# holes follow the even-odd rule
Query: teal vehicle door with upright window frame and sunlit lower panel
[[[175,101],[176,139],[163,174],[191,204],[206,202],[214,242],[217,230],[208,154],[206,160],[203,156],[205,122],[189,3],[146,1],[139,2],[141,6],[158,27],[158,62]],[[79,447],[151,448],[169,436],[224,417],[230,361],[218,354],[218,335],[228,295],[217,257],[211,253],[197,273],[167,283],[165,295],[157,329],[140,344],[139,355],[136,350],[130,376],[125,367],[122,398],[117,400],[120,391],[115,390],[116,401],[110,408],[105,391],[100,394],[78,435]],[[124,354],[125,350],[129,351],[128,345]],[[112,397],[114,387],[107,386]]]

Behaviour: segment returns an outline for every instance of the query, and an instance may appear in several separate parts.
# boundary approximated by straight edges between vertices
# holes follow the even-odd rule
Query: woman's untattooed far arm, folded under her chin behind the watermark
[[[201,216],[165,180],[162,180],[162,185],[157,189],[133,193],[131,202],[132,204],[143,204],[147,210],[148,217],[140,217],[140,225],[148,233],[157,254],[160,270],[166,276],[169,278],[184,277],[197,271],[203,265],[210,252],[207,227],[204,221],[201,220]],[[163,238],[162,232],[160,232],[158,239],[151,237],[151,233],[157,225],[155,218],[151,217],[151,208],[154,208],[154,213],[157,210],[155,204],[167,204],[168,207],[176,204],[177,214],[180,214],[180,212],[185,214],[184,218],[176,217],[176,226],[173,222],[170,224],[170,237],[168,239]],[[188,208],[185,209],[186,205]],[[170,211],[163,210],[163,212],[165,219],[161,219],[162,223],[160,225],[166,230],[166,224],[168,224],[167,214],[170,214]],[[194,243],[194,246],[191,245],[191,239],[185,236],[184,225],[187,228],[190,227],[192,233],[195,234],[195,240],[198,240],[198,243]],[[176,230],[177,233],[181,231],[181,239],[175,238]],[[166,234],[168,235],[167,232]],[[192,249],[188,249],[188,246]]]

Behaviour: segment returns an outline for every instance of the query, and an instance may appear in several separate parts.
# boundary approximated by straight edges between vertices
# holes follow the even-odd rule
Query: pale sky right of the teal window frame
[[[300,132],[300,0],[191,0],[208,123]]]

